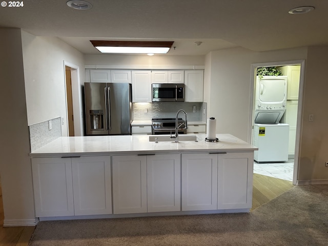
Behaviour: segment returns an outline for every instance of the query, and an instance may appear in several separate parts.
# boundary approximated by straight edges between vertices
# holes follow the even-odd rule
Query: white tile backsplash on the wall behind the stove
[[[193,107],[196,112],[193,112]],[[156,102],[133,103],[134,120],[151,120],[152,118],[175,118],[176,112],[183,109],[189,121],[206,121],[207,103]],[[205,108],[205,110],[203,110]],[[204,113],[205,112],[205,113]],[[184,117],[183,114],[179,117]]]

